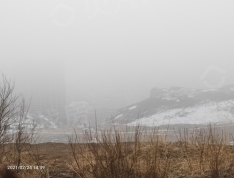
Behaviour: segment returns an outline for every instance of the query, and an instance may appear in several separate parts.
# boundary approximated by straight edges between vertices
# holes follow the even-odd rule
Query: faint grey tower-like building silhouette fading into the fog
[[[30,85],[32,90],[30,111],[51,118],[56,123],[66,122],[64,71],[61,68],[40,67]]]

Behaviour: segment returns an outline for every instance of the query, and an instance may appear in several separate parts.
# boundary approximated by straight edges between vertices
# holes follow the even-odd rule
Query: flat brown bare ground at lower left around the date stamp
[[[11,145],[8,146],[11,147]],[[47,172],[49,172],[50,178],[73,177],[68,168],[68,164],[72,161],[69,144],[40,143],[30,146],[31,150],[34,150],[34,156],[38,157],[29,156],[26,149],[22,151],[21,168],[18,168],[22,178],[39,178],[41,175],[45,177]],[[13,154],[8,153],[5,156],[5,164],[8,169],[15,169]]]

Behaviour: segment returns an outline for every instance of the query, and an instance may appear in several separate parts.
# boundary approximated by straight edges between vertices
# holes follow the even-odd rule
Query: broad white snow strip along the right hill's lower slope
[[[232,108],[234,108],[234,100],[208,103],[197,107],[163,111],[150,117],[143,117],[130,122],[127,125],[159,126],[168,124],[232,123],[234,122],[233,114],[227,111]]]

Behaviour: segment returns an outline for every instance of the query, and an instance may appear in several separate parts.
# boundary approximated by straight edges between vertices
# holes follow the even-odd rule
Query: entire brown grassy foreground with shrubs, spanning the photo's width
[[[234,177],[234,147],[228,132],[208,126],[183,129],[170,135],[157,128],[147,131],[118,129],[74,133],[69,144],[25,146],[24,165],[44,165],[42,170],[19,170],[18,177],[84,178],[221,178]],[[83,143],[81,143],[83,142]],[[5,155],[14,162],[14,151]]]

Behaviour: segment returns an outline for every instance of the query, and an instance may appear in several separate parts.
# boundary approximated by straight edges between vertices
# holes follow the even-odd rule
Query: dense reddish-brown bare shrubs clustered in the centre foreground
[[[70,169],[78,177],[167,177],[170,154],[166,142],[136,127],[128,134],[118,129],[83,134],[86,143],[79,143],[77,134],[69,138],[74,163]],[[148,137],[148,141],[143,139]],[[96,143],[93,142],[96,141]]]

